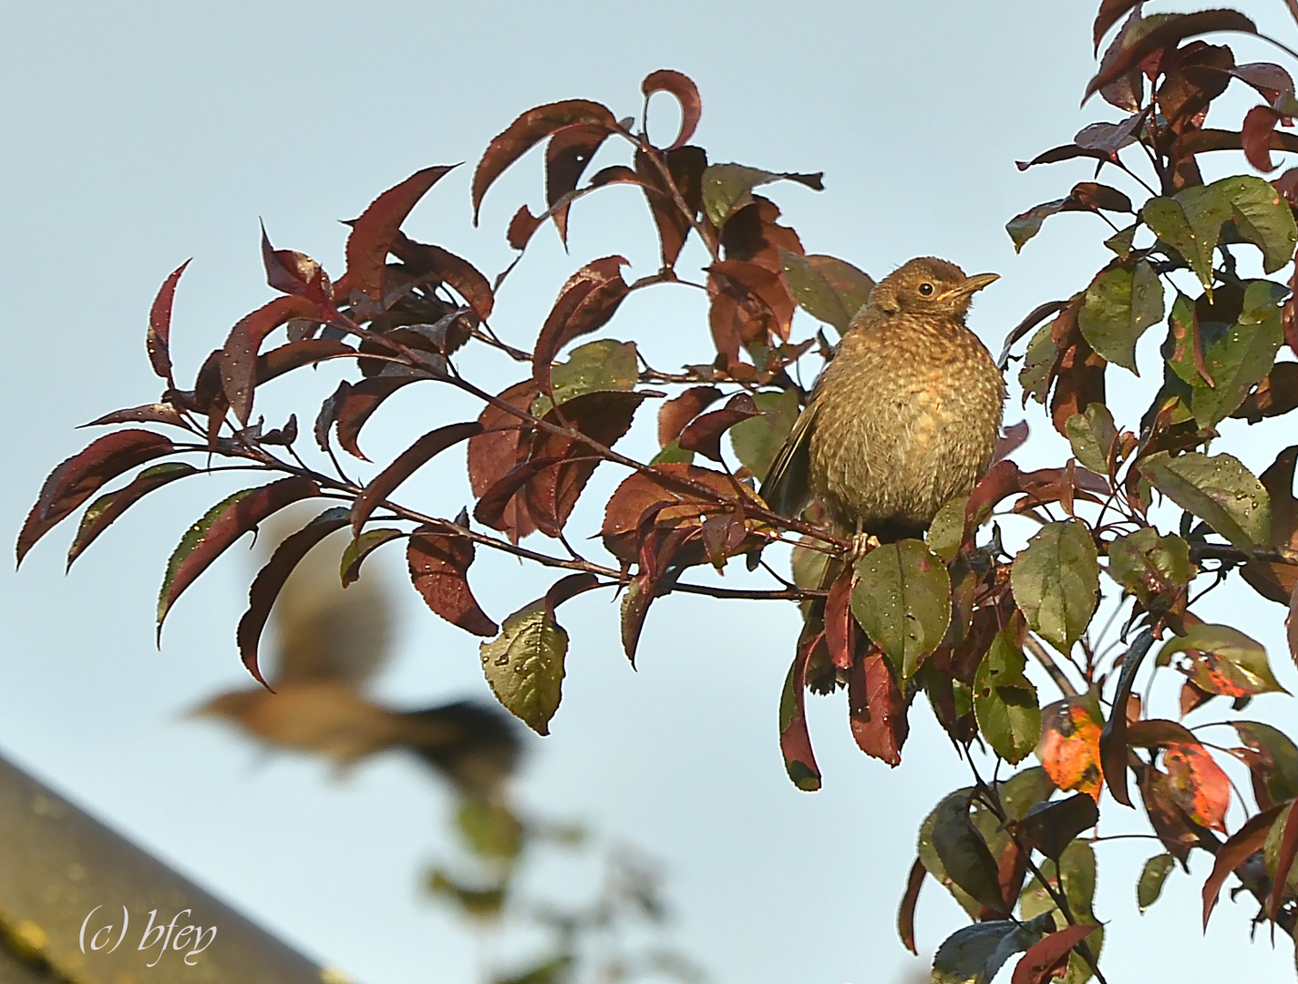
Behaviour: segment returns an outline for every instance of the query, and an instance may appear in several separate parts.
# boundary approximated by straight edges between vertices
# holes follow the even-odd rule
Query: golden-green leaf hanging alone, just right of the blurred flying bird
[[[548,735],[549,720],[562,698],[567,632],[536,601],[505,619],[500,635],[483,643],[487,683],[505,709],[537,735]]]

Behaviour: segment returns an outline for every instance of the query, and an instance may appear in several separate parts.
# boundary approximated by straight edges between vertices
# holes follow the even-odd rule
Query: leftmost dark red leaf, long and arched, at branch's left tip
[[[91,441],[80,453],[64,461],[49,473],[49,478],[40,487],[36,504],[22,524],[17,545],[18,563],[22,563],[27,550],[35,547],[42,536],[95,495],[105,482],[174,450],[175,445],[161,434],[126,430],[105,434]]]

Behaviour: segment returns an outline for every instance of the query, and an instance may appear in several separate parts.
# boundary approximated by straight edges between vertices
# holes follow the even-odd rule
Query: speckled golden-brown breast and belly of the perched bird
[[[835,522],[927,527],[986,469],[1005,383],[963,325],[900,315],[844,338],[818,400],[810,475]]]

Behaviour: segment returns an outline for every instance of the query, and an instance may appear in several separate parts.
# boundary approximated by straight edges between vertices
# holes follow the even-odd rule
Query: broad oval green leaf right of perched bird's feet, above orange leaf
[[[1060,653],[1090,624],[1099,593],[1096,544],[1084,523],[1047,523],[1010,567],[1014,600],[1035,632]]]

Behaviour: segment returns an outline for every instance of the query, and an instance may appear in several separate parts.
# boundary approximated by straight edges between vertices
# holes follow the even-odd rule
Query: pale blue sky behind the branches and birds
[[[1090,217],[1054,219],[1022,257],[1003,232],[1015,213],[1089,177],[1084,165],[1019,174],[1012,161],[1114,118],[1098,101],[1076,109],[1093,65],[1092,6],[12,5],[0,62],[9,312],[0,531],[16,534],[42,478],[86,441],[75,424],[156,396],[145,315],[182,260],[195,258],[175,305],[174,351],[192,373],[269,296],[258,217],[278,247],[308,252],[336,275],[345,232],[336,219],[383,188],[431,164],[472,162],[539,103],[589,97],[635,113],[640,79],[658,68],[698,83],[697,139],[713,160],[826,173],[820,195],[772,190],[810,251],[875,275],[923,253],[999,271],[971,321],[996,348],[1023,313],[1081,288],[1105,262]],[[1292,39],[1282,5],[1266,8],[1267,26]],[[476,231],[467,183],[469,167],[447,178],[409,227],[493,273],[509,260],[510,214],[541,200],[540,162],[533,154],[492,190]],[[537,235],[500,299],[498,330],[527,344],[563,277],[587,258],[623,252],[633,275],[653,269],[643,204],[631,190],[606,193],[620,210],[574,209],[571,257],[548,230]],[[707,358],[705,313],[684,293],[632,299],[610,334],[636,338],[654,363]],[[491,360],[469,369],[500,386],[517,375]],[[1119,405],[1147,401],[1147,383],[1111,380]],[[266,402],[287,412],[295,392],[308,389],[286,386]],[[395,453],[456,408],[445,395],[393,400],[391,430],[369,435],[373,456]],[[1009,419],[1018,417],[1011,408]],[[1062,444],[1035,408],[1028,417],[1035,436],[1024,460],[1058,460]],[[1264,467],[1280,434],[1250,435],[1242,457]],[[646,449],[649,430],[631,440]],[[409,489],[453,514],[466,498],[454,473],[428,469]],[[423,863],[445,849],[445,801],[415,766],[382,761],[334,784],[319,762],[262,763],[223,731],[179,719],[245,680],[232,637],[249,565],[238,557],[190,591],[162,652],[153,648],[162,563],[219,492],[215,482],[193,482],[118,522],[67,579],[70,530],[42,544],[21,575],[0,575],[0,750],[358,980],[471,980],[471,939],[417,887]],[[484,604],[497,614],[548,583],[505,561],[479,566],[480,583],[492,585]],[[409,705],[485,696],[475,644],[409,601],[410,631],[382,692]],[[1279,606],[1246,589],[1214,606],[1264,640],[1281,682],[1298,689]],[[715,622],[723,618],[733,621],[724,632]],[[579,598],[562,621],[572,636],[569,678],[553,736],[532,743],[528,802],[588,818],[662,857],[679,940],[716,981],[862,984],[914,966],[893,919],[915,828],[967,780],[927,711],[914,715],[902,769],[889,771],[855,750],[841,695],[814,702],[827,781],[809,796],[788,783],[776,748],[792,608],[658,602],[639,672],[620,654],[606,600]],[[1282,697],[1258,706],[1277,723],[1295,720]],[[1097,913],[1112,920],[1111,980],[1292,972],[1288,944],[1272,952],[1264,933],[1247,942],[1247,906],[1221,906],[1201,936],[1202,855],[1192,878],[1173,875],[1169,897],[1138,916],[1133,884],[1154,850],[1123,841],[1099,852]],[[958,924],[954,904],[929,883],[922,949],[932,952]]]

